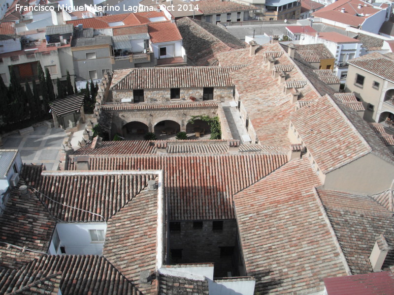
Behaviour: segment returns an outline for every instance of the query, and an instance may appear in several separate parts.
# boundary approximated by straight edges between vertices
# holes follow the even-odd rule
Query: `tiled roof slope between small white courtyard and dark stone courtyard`
[[[156,285],[139,284],[141,271],[153,273],[158,248],[158,191],[134,196],[107,224],[102,255],[142,294],[155,294]]]

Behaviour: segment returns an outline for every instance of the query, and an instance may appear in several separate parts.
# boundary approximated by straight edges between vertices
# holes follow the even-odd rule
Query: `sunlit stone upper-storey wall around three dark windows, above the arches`
[[[170,101],[170,89],[144,89],[145,102],[158,102],[163,103]],[[196,101],[202,101],[203,88],[181,88],[180,99],[181,101],[191,101],[190,96],[196,97]],[[233,88],[229,87],[214,87],[213,100],[215,101],[228,101],[232,100]],[[133,102],[132,90],[112,90],[112,101],[119,103],[122,98],[131,98]],[[177,100],[171,100],[177,101]]]

